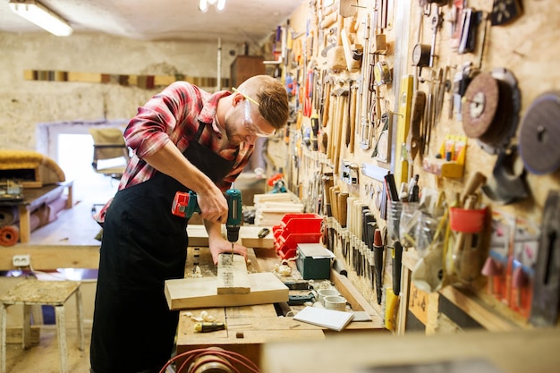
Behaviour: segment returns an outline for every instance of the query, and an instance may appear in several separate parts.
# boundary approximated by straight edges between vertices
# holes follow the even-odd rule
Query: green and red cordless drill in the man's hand
[[[227,241],[233,243],[239,240],[239,229],[242,225],[242,192],[239,189],[228,189],[225,191],[227,200],[227,221],[225,230],[227,231]],[[177,191],[173,200],[171,212],[176,216],[191,218],[195,212],[200,213],[197,194],[194,191]]]

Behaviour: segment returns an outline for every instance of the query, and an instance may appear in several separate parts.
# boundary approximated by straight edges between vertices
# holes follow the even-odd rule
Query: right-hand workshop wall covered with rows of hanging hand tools
[[[429,324],[426,329],[431,332],[455,331],[461,326],[454,325],[461,323],[454,320],[453,307],[445,308],[442,302],[438,307],[440,269],[446,274],[445,284],[473,291],[475,295],[464,299],[480,298],[493,309],[490,313],[498,315],[488,319],[514,319],[515,327],[528,326],[539,229],[547,223],[543,213],[549,191],[560,189],[556,169],[560,165],[556,149],[560,30],[552,26],[560,21],[560,3],[431,3],[369,0],[356,6],[355,1],[323,0],[302,4],[284,25],[284,39],[272,41],[272,49],[283,47],[280,65],[287,86],[294,88],[294,114],[284,140],[269,144],[269,148],[275,148],[273,153],[287,154],[284,164],[279,160],[276,164],[282,165],[289,189],[307,210],[329,216],[329,244],[339,258],[346,259],[352,283],[380,313],[391,318],[396,316],[386,314],[386,292],[396,285],[391,276],[395,271],[391,254],[398,240],[391,232],[385,235],[387,228],[393,228],[386,223],[392,221],[386,174],[395,180],[397,193],[401,182],[408,183],[418,174],[420,194],[434,191],[437,197],[443,191],[440,202],[444,206],[456,203],[457,195],[478,176],[479,184],[467,195],[472,194],[474,206],[488,209],[481,230],[475,234],[479,240],[476,256],[463,261],[462,269],[470,273],[469,278],[454,272],[454,260],[442,268],[443,254],[439,254],[433,276],[436,284],[424,286],[430,293],[417,297],[423,313],[420,323],[424,327]],[[469,15],[471,28],[463,28]],[[469,84],[472,81],[474,84]],[[543,98],[551,91],[556,94]],[[422,97],[425,102],[420,105]],[[531,112],[537,119],[525,122],[532,116],[527,115],[531,105],[542,99],[549,104],[544,114],[541,107]],[[523,157],[520,144],[525,147]],[[387,245],[381,290],[374,286],[367,268],[372,255],[358,255],[364,266],[352,261],[352,253],[345,249],[359,246],[353,231],[361,233],[361,229],[353,224],[361,220],[361,215],[354,215],[361,208],[369,208],[375,216]],[[513,221],[509,232],[517,230],[530,237],[524,244],[532,245],[532,258],[521,258],[524,254],[520,251],[528,249],[519,249],[524,238],[514,233],[511,242],[503,240],[505,244],[500,243],[503,246],[496,250],[505,251],[505,262],[498,263],[504,271],[499,276],[482,276],[488,251],[496,249],[498,225],[505,220]],[[464,237],[451,233],[445,248],[459,245]],[[425,255],[411,244],[405,246],[404,311],[398,316],[402,326],[407,310],[414,311],[408,299],[408,282],[415,275],[411,270]],[[517,268],[522,268],[526,282],[513,284],[513,269],[520,263]],[[414,284],[410,286],[415,294],[422,293]],[[445,289],[449,288],[454,286]],[[445,296],[450,295],[445,292]],[[443,315],[445,312],[448,314]],[[467,317],[485,318],[476,313],[467,312]],[[395,326],[395,319],[392,322]],[[483,326],[496,330],[488,325],[492,323],[500,324],[490,321]]]

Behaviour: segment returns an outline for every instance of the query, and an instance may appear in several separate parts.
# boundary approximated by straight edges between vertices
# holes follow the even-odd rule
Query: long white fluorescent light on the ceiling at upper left
[[[35,23],[57,37],[67,37],[72,34],[72,27],[60,15],[48,9],[35,0],[10,0],[13,13]]]

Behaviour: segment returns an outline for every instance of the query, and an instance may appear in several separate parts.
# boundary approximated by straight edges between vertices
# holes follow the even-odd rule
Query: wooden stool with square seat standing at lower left
[[[2,361],[0,373],[6,373],[6,317],[7,309],[13,304],[23,305],[23,349],[30,347],[31,336],[31,306],[48,305],[55,307],[56,328],[58,333],[58,350],[60,352],[60,371],[68,373],[66,359],[66,324],[64,318],[64,303],[76,294],[76,313],[78,318],[78,336],[80,350],[84,349],[83,322],[81,309],[80,283],[76,281],[39,281],[25,280],[17,284],[12,290],[0,296],[0,343],[2,343]]]

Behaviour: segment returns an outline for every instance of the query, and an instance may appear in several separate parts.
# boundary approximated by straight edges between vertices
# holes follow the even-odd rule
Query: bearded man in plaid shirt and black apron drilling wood
[[[221,234],[224,192],[242,172],[258,137],[284,127],[288,96],[259,75],[233,93],[174,82],[141,106],[124,131],[134,156],[103,225],[90,362],[94,373],[158,372],[171,357],[179,318],[165,301],[165,280],[182,278],[187,222],[174,216],[176,191],[198,195],[214,263],[231,252]],[[247,249],[235,244],[236,254]]]

